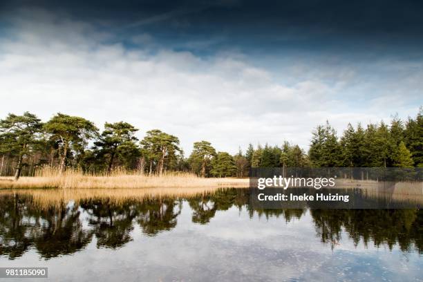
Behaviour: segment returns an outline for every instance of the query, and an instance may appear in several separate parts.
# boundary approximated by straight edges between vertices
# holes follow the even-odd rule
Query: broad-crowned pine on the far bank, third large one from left
[[[99,150],[101,156],[108,156],[107,171],[110,173],[115,156],[118,154],[124,161],[128,160],[124,156],[132,156],[128,152],[136,152],[134,134],[138,131],[134,126],[127,122],[115,122],[113,124],[106,122],[104,131],[100,135],[99,140],[94,142],[95,149]]]

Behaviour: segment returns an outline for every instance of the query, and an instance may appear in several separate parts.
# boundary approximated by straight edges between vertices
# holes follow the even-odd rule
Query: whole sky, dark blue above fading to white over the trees
[[[1,1],[0,118],[55,113],[236,153],[423,105],[419,1]]]

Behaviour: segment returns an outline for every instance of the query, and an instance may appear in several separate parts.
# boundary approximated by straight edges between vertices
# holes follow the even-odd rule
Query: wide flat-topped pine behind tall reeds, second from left
[[[46,124],[44,129],[50,135],[50,140],[61,148],[59,171],[66,169],[68,153],[71,150],[83,151],[88,140],[98,135],[98,129],[93,122],[84,118],[57,113]]]

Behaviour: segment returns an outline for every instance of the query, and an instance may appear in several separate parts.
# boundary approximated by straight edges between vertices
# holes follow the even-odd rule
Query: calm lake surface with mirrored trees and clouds
[[[3,194],[0,265],[48,267],[50,281],[423,281],[422,210],[254,210],[248,199],[226,189],[50,206]]]

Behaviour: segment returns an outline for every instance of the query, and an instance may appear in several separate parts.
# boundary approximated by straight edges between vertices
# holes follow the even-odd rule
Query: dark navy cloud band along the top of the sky
[[[417,49],[421,1],[6,1],[3,11],[37,7],[102,23],[123,36],[153,33],[175,48],[245,50]],[[211,40],[214,39],[214,40]],[[194,45],[181,44],[194,41]],[[204,41],[209,44],[205,46]],[[207,43],[207,42],[206,42]],[[194,47],[193,47],[194,46]],[[391,50],[393,48],[393,50]]]

